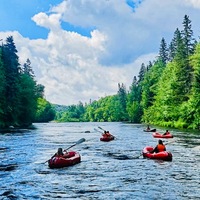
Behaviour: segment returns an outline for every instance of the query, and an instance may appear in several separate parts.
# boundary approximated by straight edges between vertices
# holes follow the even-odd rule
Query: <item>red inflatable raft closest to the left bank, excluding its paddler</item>
[[[68,167],[75,165],[77,163],[81,162],[81,156],[79,153],[75,151],[70,151],[67,153],[67,157],[65,157],[66,154],[63,156],[55,156],[48,160],[49,167],[51,169],[53,168],[62,168],[62,167]]]

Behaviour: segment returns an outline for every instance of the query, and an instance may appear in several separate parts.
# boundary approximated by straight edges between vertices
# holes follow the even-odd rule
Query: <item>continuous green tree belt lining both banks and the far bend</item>
[[[182,25],[169,44],[161,39],[158,57],[141,64],[128,89],[118,83],[115,95],[70,106],[44,99],[44,86],[35,81],[30,60],[19,64],[13,38],[8,37],[0,46],[0,130],[52,120],[200,129],[200,42],[189,16]]]

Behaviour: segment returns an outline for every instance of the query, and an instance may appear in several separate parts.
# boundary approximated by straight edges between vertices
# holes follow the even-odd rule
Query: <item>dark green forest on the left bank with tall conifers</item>
[[[0,46],[0,83],[0,130],[54,119],[55,111],[44,99],[44,86],[35,81],[29,59],[20,65],[12,36]]]

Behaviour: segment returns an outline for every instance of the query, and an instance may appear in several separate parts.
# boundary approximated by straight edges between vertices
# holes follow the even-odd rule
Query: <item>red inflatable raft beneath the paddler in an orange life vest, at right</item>
[[[168,151],[162,151],[158,153],[151,153],[153,151],[153,147],[147,146],[143,149],[142,154],[144,158],[149,159],[158,159],[158,160],[164,160],[164,161],[172,161],[172,154]]]

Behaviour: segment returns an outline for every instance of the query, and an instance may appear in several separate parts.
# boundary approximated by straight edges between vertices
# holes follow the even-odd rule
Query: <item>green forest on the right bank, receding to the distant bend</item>
[[[182,26],[174,31],[169,44],[161,39],[158,57],[146,66],[141,64],[128,89],[118,83],[116,95],[67,106],[56,112],[55,120],[128,121],[199,129],[200,43],[193,36],[189,16],[184,16]]]

